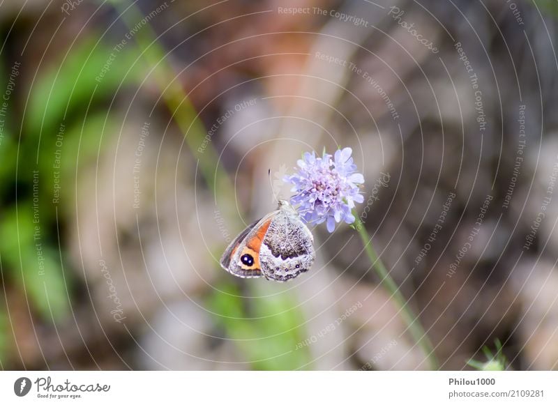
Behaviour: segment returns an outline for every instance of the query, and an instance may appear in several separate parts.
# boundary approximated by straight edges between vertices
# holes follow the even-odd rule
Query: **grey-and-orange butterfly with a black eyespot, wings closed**
[[[310,270],[314,237],[288,201],[277,211],[250,224],[221,257],[221,267],[237,277],[266,277],[285,282]]]

